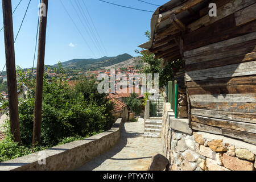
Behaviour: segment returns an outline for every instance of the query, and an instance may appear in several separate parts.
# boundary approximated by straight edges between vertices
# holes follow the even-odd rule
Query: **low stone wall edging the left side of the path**
[[[110,150],[120,138],[122,119],[114,123],[112,129],[48,150],[22,156],[7,162],[0,163],[0,171],[59,171],[76,169],[89,160]],[[39,164],[46,159],[46,164]]]

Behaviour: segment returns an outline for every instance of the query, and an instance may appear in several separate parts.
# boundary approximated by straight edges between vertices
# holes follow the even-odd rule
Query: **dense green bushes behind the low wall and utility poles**
[[[59,77],[52,78],[51,81],[47,79],[46,74],[44,75],[41,142],[40,146],[33,149],[34,151],[90,137],[110,129],[114,123],[111,114],[113,105],[106,98],[106,94],[97,92],[95,78],[90,80],[80,78],[75,88],[70,88],[67,75],[60,63],[55,71],[59,73]],[[7,138],[2,145],[6,143],[7,148],[2,146],[3,151],[6,151],[0,155],[2,160],[26,155],[31,152],[32,147],[35,78],[27,77],[20,68],[17,69],[17,73],[20,89],[22,85],[27,85],[29,88],[27,97],[19,99],[22,146],[17,146],[9,140],[10,122],[6,121]],[[8,104],[5,106],[7,107]]]

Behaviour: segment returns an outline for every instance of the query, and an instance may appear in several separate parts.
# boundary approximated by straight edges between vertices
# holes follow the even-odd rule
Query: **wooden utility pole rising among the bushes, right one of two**
[[[40,9],[40,28],[38,43],[38,64],[36,67],[36,93],[33,126],[33,146],[40,144],[41,122],[42,122],[42,100],[43,100],[43,77],[44,77],[44,55],[46,49],[46,26],[47,26],[48,0],[42,0]]]

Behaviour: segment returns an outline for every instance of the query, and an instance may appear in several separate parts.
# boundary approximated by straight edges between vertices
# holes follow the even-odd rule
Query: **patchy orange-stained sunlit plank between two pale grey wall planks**
[[[256,103],[242,103],[242,102],[200,102],[191,101],[193,109],[207,109],[219,111],[233,111],[244,113],[256,113]]]

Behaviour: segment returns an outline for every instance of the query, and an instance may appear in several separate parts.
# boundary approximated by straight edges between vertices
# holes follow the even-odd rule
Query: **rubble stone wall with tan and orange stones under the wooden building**
[[[254,171],[256,146],[241,140],[196,132],[174,119],[164,104],[162,144],[170,171]]]

